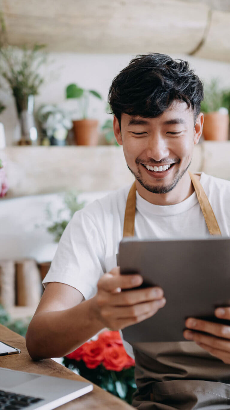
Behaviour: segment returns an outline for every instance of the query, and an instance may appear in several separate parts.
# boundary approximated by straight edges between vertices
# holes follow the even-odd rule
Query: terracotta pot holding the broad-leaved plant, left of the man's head
[[[73,121],[74,137],[77,145],[97,145],[99,140],[98,120]]]

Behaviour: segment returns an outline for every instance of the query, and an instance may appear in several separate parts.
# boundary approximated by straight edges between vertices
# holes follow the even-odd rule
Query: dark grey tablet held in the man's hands
[[[230,306],[229,237],[125,238],[119,263],[121,274],[139,273],[141,287],[160,286],[166,298],[154,316],[122,330],[127,342],[185,341],[187,317],[230,324],[214,316],[216,307]]]

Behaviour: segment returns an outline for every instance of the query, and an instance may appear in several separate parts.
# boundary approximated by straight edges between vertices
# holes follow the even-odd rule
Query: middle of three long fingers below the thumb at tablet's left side
[[[116,319],[136,318],[152,312],[155,314],[166,303],[166,299],[151,301],[148,303],[139,303],[138,305],[116,307],[109,306],[103,309],[104,317],[115,317]]]

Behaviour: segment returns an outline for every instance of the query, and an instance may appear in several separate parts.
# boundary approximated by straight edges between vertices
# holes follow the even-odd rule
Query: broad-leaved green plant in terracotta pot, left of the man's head
[[[99,100],[102,97],[97,91],[85,90],[76,84],[69,84],[66,88],[66,98],[79,99],[81,109],[80,119],[74,120],[74,135],[77,145],[97,145],[99,139],[98,125],[96,119],[88,118],[89,97],[94,96]]]

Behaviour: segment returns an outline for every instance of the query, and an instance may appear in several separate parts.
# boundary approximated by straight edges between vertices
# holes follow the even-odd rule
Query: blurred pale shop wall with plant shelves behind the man
[[[229,38],[229,0],[0,1],[4,323],[25,333],[73,213],[132,182],[107,104],[132,57],[190,62],[205,89],[191,171],[230,180]]]

